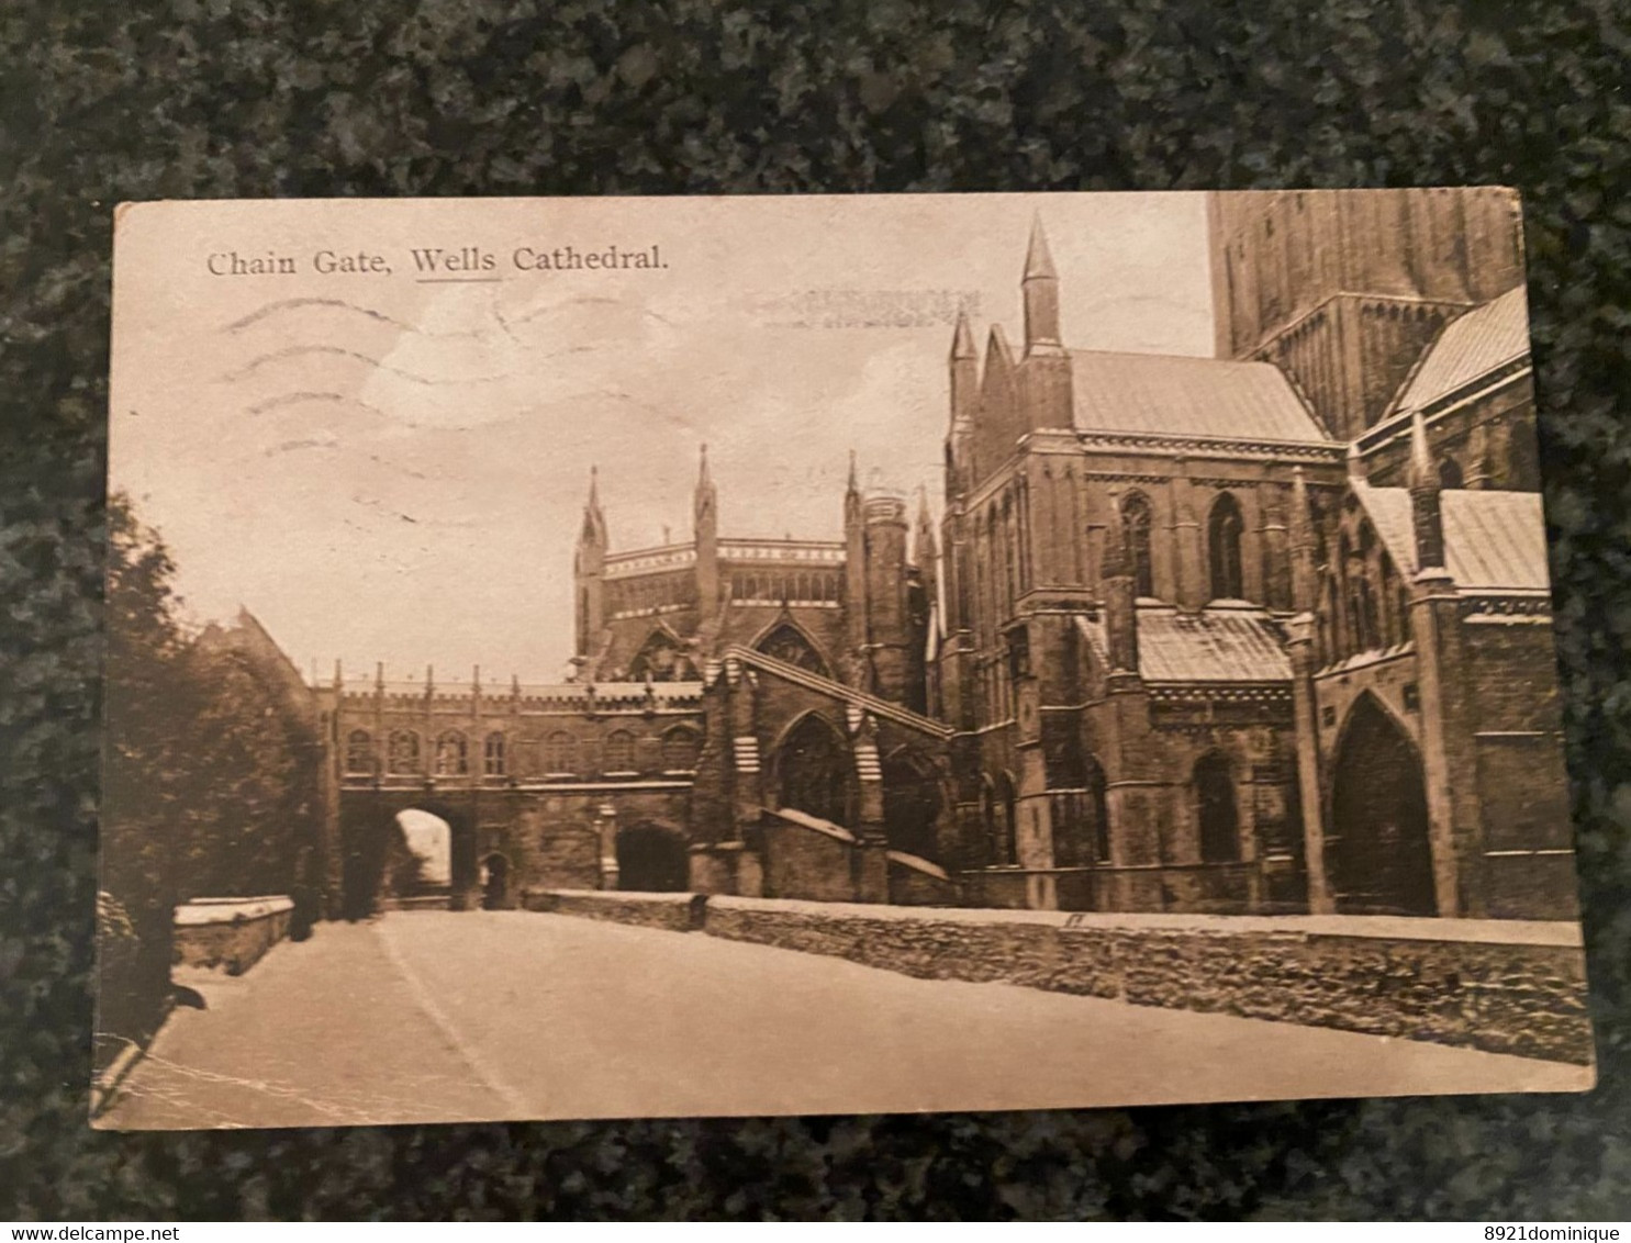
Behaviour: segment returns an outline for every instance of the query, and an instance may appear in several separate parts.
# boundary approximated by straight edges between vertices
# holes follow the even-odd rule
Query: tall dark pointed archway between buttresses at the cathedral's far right
[[[1372,695],[1354,705],[1337,744],[1326,852],[1337,910],[1439,913],[1421,757]]]

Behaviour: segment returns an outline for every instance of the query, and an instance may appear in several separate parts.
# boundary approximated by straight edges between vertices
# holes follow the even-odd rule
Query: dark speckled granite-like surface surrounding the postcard
[[[1631,10],[1422,8],[0,0],[0,1217],[1628,1215]],[[114,202],[1465,181],[1528,204],[1597,1093],[86,1129]]]

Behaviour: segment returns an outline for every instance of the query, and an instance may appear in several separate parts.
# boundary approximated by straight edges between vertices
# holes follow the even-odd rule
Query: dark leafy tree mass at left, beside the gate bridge
[[[175,563],[126,498],[108,522],[98,1029],[142,1039],[170,992],[178,902],[294,894],[308,935],[323,742],[254,652],[184,631]]]

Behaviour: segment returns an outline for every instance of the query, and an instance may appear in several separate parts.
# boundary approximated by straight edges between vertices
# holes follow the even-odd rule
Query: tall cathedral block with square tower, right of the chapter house
[[[1217,359],[949,361],[966,887],[1083,910],[1572,913],[1512,199],[1217,196]]]

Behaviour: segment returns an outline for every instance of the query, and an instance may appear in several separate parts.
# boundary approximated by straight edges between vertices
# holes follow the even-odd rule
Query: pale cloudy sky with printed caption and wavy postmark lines
[[[1212,352],[1199,194],[121,209],[109,486],[302,670],[561,680],[590,467],[613,551],[688,537],[703,444],[726,537],[838,538],[850,450],[938,512],[956,310],[1021,341],[1032,217],[1067,344]]]

